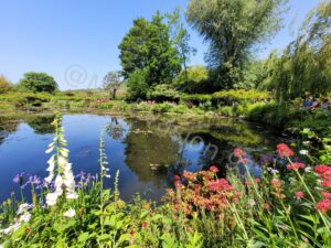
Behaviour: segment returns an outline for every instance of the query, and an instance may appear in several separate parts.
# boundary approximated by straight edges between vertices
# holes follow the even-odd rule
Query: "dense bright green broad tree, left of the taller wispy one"
[[[136,69],[143,69],[147,84],[170,84],[181,69],[177,50],[170,40],[169,26],[157,12],[151,21],[136,19],[119,45],[122,75],[127,79]]]

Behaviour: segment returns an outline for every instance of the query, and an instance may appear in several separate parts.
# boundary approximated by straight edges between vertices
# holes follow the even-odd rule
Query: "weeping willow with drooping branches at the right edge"
[[[305,93],[330,95],[331,91],[331,2],[322,2],[302,23],[296,41],[276,63],[274,85],[279,100]]]

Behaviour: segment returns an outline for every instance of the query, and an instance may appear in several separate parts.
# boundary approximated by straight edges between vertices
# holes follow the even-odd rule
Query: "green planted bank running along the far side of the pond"
[[[213,95],[181,95],[173,101],[126,103],[109,100],[103,90],[50,94],[9,93],[0,96],[0,112],[67,110],[78,112],[152,112],[188,116],[241,117],[277,131],[311,128],[321,136],[331,133],[331,112],[308,110],[300,101],[277,104],[268,93],[227,90]],[[121,96],[122,97],[122,96]]]

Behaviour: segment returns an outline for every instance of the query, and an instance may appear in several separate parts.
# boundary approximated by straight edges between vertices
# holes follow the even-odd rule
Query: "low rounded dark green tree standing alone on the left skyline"
[[[54,93],[58,88],[52,76],[34,72],[25,73],[18,87],[31,93]]]

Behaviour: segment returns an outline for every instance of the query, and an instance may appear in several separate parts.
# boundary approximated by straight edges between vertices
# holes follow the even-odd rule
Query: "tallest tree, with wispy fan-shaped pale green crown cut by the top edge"
[[[280,28],[286,0],[191,0],[189,23],[210,43],[206,60],[218,88],[232,88],[257,45]]]

